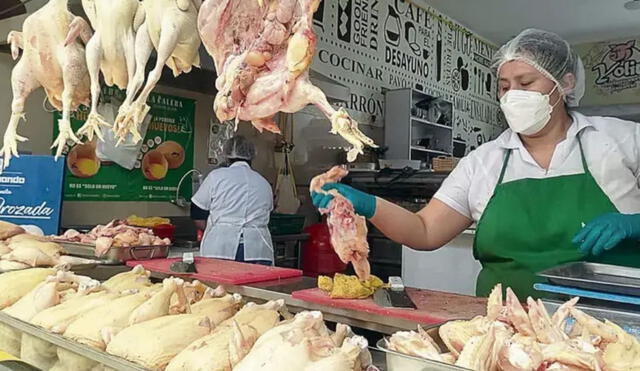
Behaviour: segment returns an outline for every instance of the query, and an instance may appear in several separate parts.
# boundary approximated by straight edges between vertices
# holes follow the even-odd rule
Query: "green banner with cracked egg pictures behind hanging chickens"
[[[124,99],[124,92],[104,88],[102,100],[113,103]],[[178,182],[193,168],[193,135],[195,101],[165,94],[151,93],[147,104],[151,120],[139,148],[129,147],[127,158],[132,169],[126,169],[102,154],[104,144],[67,143],[64,199],[73,201],[170,201],[175,199]],[[77,131],[89,110],[81,107],[72,114],[71,127]],[[54,112],[54,138],[58,135],[60,112]],[[105,116],[106,118],[107,116]],[[110,121],[107,119],[107,121]],[[106,135],[113,136],[108,131]],[[118,147],[119,148],[119,147]],[[135,156],[135,159],[133,158]],[[180,194],[191,198],[191,178],[182,182]]]

